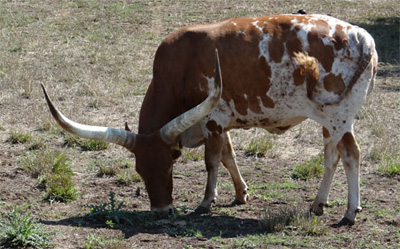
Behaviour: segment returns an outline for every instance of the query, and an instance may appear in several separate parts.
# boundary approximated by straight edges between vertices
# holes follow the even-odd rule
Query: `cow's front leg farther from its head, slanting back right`
[[[237,167],[235,151],[232,148],[229,132],[222,135],[224,144],[222,148],[222,163],[228,169],[233,185],[235,186],[236,198],[233,204],[245,204],[248,200],[247,184]]]

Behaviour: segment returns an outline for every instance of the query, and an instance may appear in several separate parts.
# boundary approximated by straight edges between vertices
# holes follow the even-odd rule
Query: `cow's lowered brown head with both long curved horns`
[[[43,92],[57,123],[68,132],[89,139],[119,144],[136,157],[136,170],[145,182],[151,209],[158,213],[170,213],[172,206],[173,148],[178,137],[188,128],[207,116],[218,104],[222,92],[222,80],[216,51],[214,86],[206,100],[181,114],[161,129],[151,134],[135,134],[125,129],[90,126],[76,123],[65,117],[51,102],[44,85]]]

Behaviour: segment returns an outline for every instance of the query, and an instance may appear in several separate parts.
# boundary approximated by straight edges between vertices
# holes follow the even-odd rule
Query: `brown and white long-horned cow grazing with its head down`
[[[217,196],[220,162],[231,174],[236,202],[247,202],[229,130],[262,127],[281,134],[313,119],[323,127],[325,173],[311,210],[323,213],[342,158],[348,208],[339,224],[351,225],[361,210],[354,117],[372,90],[376,68],[374,40],[365,30],[330,16],[275,15],[185,27],[165,38],[155,55],[138,134],[75,123],[45,94],[64,129],[135,154],[151,209],[161,213],[173,211],[172,165],[182,146],[205,145],[208,180],[196,209],[205,212]]]

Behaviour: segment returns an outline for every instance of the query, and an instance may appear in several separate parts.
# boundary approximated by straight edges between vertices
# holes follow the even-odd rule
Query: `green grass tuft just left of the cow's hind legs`
[[[304,163],[297,164],[291,177],[293,179],[308,180],[318,178],[324,174],[324,156],[319,155]]]

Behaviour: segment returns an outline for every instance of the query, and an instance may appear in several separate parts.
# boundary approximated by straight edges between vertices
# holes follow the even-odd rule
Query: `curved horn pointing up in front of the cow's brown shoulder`
[[[211,92],[206,100],[161,128],[160,134],[164,142],[173,143],[180,134],[210,114],[217,106],[222,94],[221,68],[217,49],[215,49],[215,78],[213,82],[214,86],[210,89]]]

